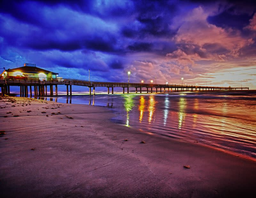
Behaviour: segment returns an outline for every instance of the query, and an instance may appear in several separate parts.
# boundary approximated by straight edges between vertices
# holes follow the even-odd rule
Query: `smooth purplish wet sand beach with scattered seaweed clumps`
[[[4,197],[238,197],[256,192],[255,161],[114,124],[104,107],[20,97],[2,97],[0,107]]]

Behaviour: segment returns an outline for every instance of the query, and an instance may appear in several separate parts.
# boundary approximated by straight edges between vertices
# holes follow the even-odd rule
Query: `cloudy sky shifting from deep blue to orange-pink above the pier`
[[[4,0],[0,67],[256,89],[255,12],[253,1]]]

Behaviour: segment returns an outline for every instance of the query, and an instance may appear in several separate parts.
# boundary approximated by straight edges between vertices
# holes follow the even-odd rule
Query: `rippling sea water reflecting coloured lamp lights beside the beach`
[[[64,94],[42,99],[107,107],[112,122],[256,159],[256,91]]]

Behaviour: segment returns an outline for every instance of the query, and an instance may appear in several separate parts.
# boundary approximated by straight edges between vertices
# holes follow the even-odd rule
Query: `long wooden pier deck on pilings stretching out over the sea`
[[[72,95],[72,86],[85,86],[90,88],[90,94],[95,94],[96,87],[107,87],[108,94],[111,88],[111,93],[114,93],[115,87],[122,87],[123,94],[129,94],[129,88],[135,88],[135,93],[142,93],[142,88],[147,89],[147,93],[153,93],[153,88],[156,93],[162,92],[183,92],[183,91],[232,91],[236,89],[247,89],[248,87],[214,87],[214,86],[195,86],[195,85],[176,85],[176,84],[153,84],[153,83],[125,83],[125,82],[96,82],[77,79],[57,79],[57,78],[34,78],[34,77],[14,77],[5,76],[0,78],[1,94],[10,95],[10,86],[20,86],[20,96],[28,95],[28,87],[30,96],[32,95],[32,86],[34,86],[34,95],[43,96],[47,95],[47,86],[50,87],[48,95],[53,96],[53,86],[55,86],[55,95],[58,95],[58,85],[67,86],[67,95]],[[69,86],[69,89],[68,89]],[[93,88],[93,93],[92,93]],[[126,89],[126,91],[125,91]],[[146,90],[143,90],[144,93]]]

